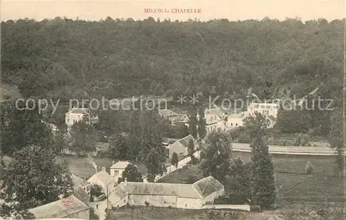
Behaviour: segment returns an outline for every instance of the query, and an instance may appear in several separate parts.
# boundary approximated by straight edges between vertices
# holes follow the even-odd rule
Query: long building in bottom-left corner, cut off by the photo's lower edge
[[[34,215],[35,219],[89,219],[89,206],[73,195],[71,201],[73,206],[64,206],[60,199],[28,211]]]

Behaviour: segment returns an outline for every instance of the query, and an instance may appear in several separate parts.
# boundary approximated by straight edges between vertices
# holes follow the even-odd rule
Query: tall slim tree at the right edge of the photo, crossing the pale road
[[[336,167],[338,169],[338,175],[341,177],[344,169],[344,136],[343,132],[343,116],[340,109],[333,112],[331,117],[331,128],[328,136],[328,142],[330,148],[334,150],[336,154]]]

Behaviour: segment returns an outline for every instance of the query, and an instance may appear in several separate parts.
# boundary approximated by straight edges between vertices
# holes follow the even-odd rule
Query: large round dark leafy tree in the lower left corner
[[[3,170],[5,200],[15,210],[26,210],[73,193],[67,164],[55,163],[55,154],[40,146],[28,146],[16,152]]]

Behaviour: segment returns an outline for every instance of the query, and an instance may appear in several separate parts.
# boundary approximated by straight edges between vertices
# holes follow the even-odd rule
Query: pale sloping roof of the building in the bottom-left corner
[[[62,206],[62,199],[60,199],[43,206],[31,208],[28,211],[33,213],[37,219],[50,219],[68,217],[76,212],[82,212],[83,210],[89,209],[89,207],[77,199],[77,197],[72,195],[71,198],[73,199],[73,206],[70,207]]]

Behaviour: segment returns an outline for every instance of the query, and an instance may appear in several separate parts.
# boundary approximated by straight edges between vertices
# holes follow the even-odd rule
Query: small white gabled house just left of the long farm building
[[[108,196],[114,189],[114,178],[106,172],[106,168],[102,168],[100,172],[96,172],[87,180],[89,183],[101,186],[103,192]]]

